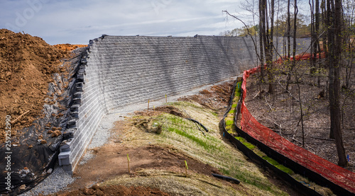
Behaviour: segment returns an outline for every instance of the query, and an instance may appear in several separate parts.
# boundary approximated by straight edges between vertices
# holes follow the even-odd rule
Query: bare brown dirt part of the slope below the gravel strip
[[[219,86],[212,86],[209,91],[204,90],[198,95],[183,97],[180,100],[194,101],[200,105],[204,105],[206,108],[213,109],[220,118],[226,110],[232,86],[233,81],[230,81]],[[170,195],[164,192],[164,190],[147,188],[149,186],[152,187],[154,183],[158,183],[158,187],[161,187],[162,183],[167,184],[165,186],[168,190],[181,189],[176,190],[178,193],[173,195],[186,195],[186,192],[193,194],[196,191],[194,188],[181,187],[179,184],[180,180],[190,180],[190,178],[185,178],[185,160],[189,168],[187,175],[200,180],[205,186],[212,185],[213,188],[224,187],[239,190],[239,192],[249,192],[243,191],[244,189],[247,190],[247,188],[244,188],[244,185],[235,185],[212,177],[211,173],[222,174],[219,169],[202,163],[187,154],[181,154],[174,146],[156,145],[153,140],[143,137],[137,132],[137,129],[147,129],[146,120],[161,113],[186,117],[186,114],[178,108],[166,105],[155,108],[154,111],[141,110],[135,112],[135,115],[145,116],[143,120],[141,118],[133,119],[129,117],[126,120],[115,122],[114,129],[112,130],[113,136],[109,144],[93,149],[91,153],[94,154],[94,158],[87,161],[87,163],[77,166],[74,174],[77,178],[75,183],[69,186],[69,190],[58,192],[58,195],[110,195],[112,193],[118,194],[120,193],[119,191],[129,192],[128,195]],[[224,142],[227,141],[224,140]],[[127,154],[130,158],[130,171]],[[260,171],[262,170],[260,169]],[[263,171],[263,173],[280,190],[288,192],[290,195],[299,195],[271,173],[266,171]],[[116,178],[125,182],[129,181],[127,179],[130,179],[134,183],[126,186],[119,185],[119,187],[111,185],[110,182],[116,181]],[[153,180],[142,180],[143,178],[153,178]],[[104,185],[99,185],[99,183]],[[155,193],[153,194],[152,192]],[[198,195],[198,192],[195,194]],[[220,194],[225,195],[223,192],[220,192]]]

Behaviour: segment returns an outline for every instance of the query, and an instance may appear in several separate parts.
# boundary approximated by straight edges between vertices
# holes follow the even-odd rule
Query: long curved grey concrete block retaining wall
[[[60,165],[74,170],[102,117],[123,106],[216,83],[256,67],[251,38],[108,36],[90,40],[77,74]]]

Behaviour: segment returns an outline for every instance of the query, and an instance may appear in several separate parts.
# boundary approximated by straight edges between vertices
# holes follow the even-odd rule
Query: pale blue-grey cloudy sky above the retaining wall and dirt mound
[[[1,0],[0,28],[57,43],[107,35],[219,35],[242,24],[241,0]],[[246,11],[244,11],[246,13]]]

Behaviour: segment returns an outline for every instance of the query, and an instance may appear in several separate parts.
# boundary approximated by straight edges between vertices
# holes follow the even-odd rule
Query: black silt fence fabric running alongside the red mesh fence
[[[251,160],[253,160],[255,163],[258,163],[258,165],[260,165],[262,168],[268,168],[269,170],[273,171],[273,173],[275,173],[275,175],[277,175],[280,179],[285,180],[286,183],[288,183],[288,185],[290,185],[290,187],[294,188],[297,192],[301,192],[304,195],[321,195],[319,192],[313,190],[312,188],[309,188],[305,185],[303,185],[302,183],[298,182],[297,180],[295,180],[295,178],[293,178],[292,176],[290,176],[288,173],[285,173],[284,171],[281,171],[279,168],[276,168],[275,166],[273,166],[271,163],[269,163],[268,161],[266,161],[265,159],[261,158],[260,156],[258,156],[257,154],[255,154],[254,151],[252,151],[251,149],[249,149],[248,147],[244,146],[244,144],[242,144],[238,139],[236,139],[234,136],[232,136],[231,134],[229,134],[229,132],[226,131],[226,125],[225,125],[225,121],[224,118],[226,117],[226,115],[229,113],[229,111],[231,110],[231,105],[232,105],[232,101],[234,98],[234,93],[235,93],[235,88],[236,88],[236,82],[234,83],[234,88],[233,88],[233,92],[231,93],[231,98],[229,100],[229,106],[227,108],[226,113],[224,114],[224,117],[221,121],[222,123],[222,127],[224,129],[224,137],[226,137],[226,139],[229,139],[229,141],[234,144],[240,151],[242,151],[247,157],[251,158]],[[242,97],[242,96],[241,96]],[[240,100],[239,100],[239,104],[236,106],[237,111],[240,111]],[[237,112],[238,114],[239,112]],[[236,122],[238,115],[236,115],[234,122]],[[267,154],[269,157],[275,159],[275,161],[278,161],[278,163],[285,163],[285,159],[281,158],[280,156],[276,155],[278,154],[278,152],[273,151],[273,149],[269,148],[268,146],[264,145],[261,147],[260,144],[262,144],[261,142],[258,142],[256,139],[253,139],[253,137],[249,136],[249,134],[246,134],[245,132],[243,132],[241,129],[239,129],[236,126],[236,132],[238,132],[238,134],[241,137],[244,137],[246,140],[248,140],[248,142],[250,142],[251,144],[255,145],[258,147],[258,149],[261,149],[261,151],[263,151],[265,154]],[[260,143],[260,144],[259,144]],[[276,156],[275,156],[276,155]],[[285,156],[284,156],[285,157]],[[295,162],[293,162],[295,163]],[[297,164],[297,163],[296,163]],[[304,175],[304,173],[302,171],[296,170],[293,166],[290,166],[288,164],[283,164],[284,166],[293,169],[293,171],[295,171],[295,173],[300,173],[301,175]],[[299,164],[297,164],[298,166],[300,166]],[[302,167],[302,166],[300,166]],[[306,168],[307,169],[307,168]],[[307,175],[305,175],[307,176]],[[308,177],[308,176],[307,176]],[[309,178],[309,177],[308,177]],[[319,182],[316,180],[313,180],[311,178],[309,178],[312,181],[315,182]],[[323,183],[320,183],[322,186],[324,186]],[[343,189],[344,190],[344,189]],[[346,190],[345,190],[346,191]],[[344,194],[340,194],[340,192],[334,191],[334,193],[339,194],[339,195],[349,195],[349,193],[351,192],[344,192]]]

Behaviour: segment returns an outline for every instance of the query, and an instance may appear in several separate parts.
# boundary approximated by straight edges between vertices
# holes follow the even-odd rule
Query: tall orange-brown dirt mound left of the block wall
[[[16,136],[16,130],[42,114],[52,74],[65,71],[60,59],[69,57],[42,38],[0,30],[0,142],[6,115],[11,115],[11,134]]]

